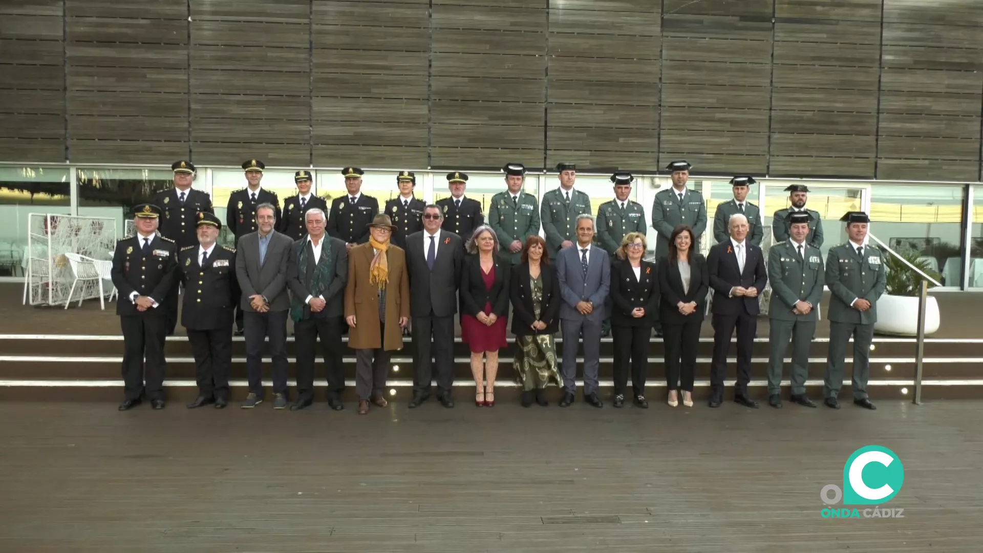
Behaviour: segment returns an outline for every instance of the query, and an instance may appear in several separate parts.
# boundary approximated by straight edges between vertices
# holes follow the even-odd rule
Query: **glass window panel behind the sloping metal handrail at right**
[[[942,275],[961,282],[961,185],[876,183],[871,191],[870,231],[899,254],[914,253]]]

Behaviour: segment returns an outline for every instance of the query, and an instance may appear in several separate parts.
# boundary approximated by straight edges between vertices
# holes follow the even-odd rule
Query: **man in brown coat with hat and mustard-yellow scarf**
[[[403,347],[403,329],[410,318],[406,256],[389,241],[395,229],[389,215],[376,215],[369,225],[369,243],[348,252],[345,321],[348,345],[355,349],[359,414],[369,412],[370,399],[386,405],[389,352]]]

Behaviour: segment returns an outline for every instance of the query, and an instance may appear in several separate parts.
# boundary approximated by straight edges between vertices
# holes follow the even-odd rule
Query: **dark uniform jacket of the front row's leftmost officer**
[[[161,316],[166,312],[164,298],[171,286],[175,285],[178,249],[172,240],[154,236],[150,240],[150,251],[144,254],[140,234],[116,242],[113,253],[112,279],[119,290],[116,302],[117,315]],[[138,292],[157,302],[156,307],[144,312],[130,300],[130,294]]]

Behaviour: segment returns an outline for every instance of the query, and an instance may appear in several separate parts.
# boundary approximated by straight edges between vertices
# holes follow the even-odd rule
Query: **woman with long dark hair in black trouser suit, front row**
[[[707,304],[710,271],[707,260],[693,251],[693,230],[680,224],[669,236],[668,258],[659,263],[662,308],[659,310],[665,340],[665,382],[670,406],[679,401],[676,389],[682,379],[682,404],[693,406],[693,378],[700,327]]]

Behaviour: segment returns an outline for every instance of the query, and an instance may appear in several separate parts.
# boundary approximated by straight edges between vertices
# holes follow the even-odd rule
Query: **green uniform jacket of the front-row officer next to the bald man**
[[[823,252],[808,244],[802,248],[802,257],[791,242],[781,242],[768,252],[768,278],[772,282],[772,304],[768,308],[769,319],[780,321],[817,321],[819,302],[823,299],[826,275],[823,268]],[[797,301],[812,304],[808,315],[796,315],[792,308]]]

